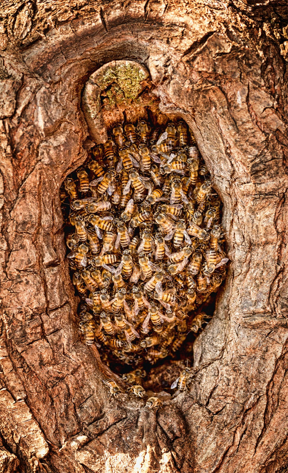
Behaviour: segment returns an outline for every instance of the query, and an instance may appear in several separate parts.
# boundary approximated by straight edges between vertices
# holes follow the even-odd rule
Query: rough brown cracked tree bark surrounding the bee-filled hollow
[[[0,471],[286,471],[285,3],[1,8]],[[79,340],[64,260],[59,187],[89,146],[81,93],[119,59],[145,65],[161,109],[193,130],[232,261],[195,343],[190,391],[157,412],[103,386],[107,368]]]

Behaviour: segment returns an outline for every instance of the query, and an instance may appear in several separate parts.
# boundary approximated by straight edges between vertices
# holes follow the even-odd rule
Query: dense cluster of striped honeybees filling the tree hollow
[[[201,306],[228,261],[209,177],[184,121],[139,120],[115,126],[64,181],[80,331],[102,359],[154,364],[207,321]]]

